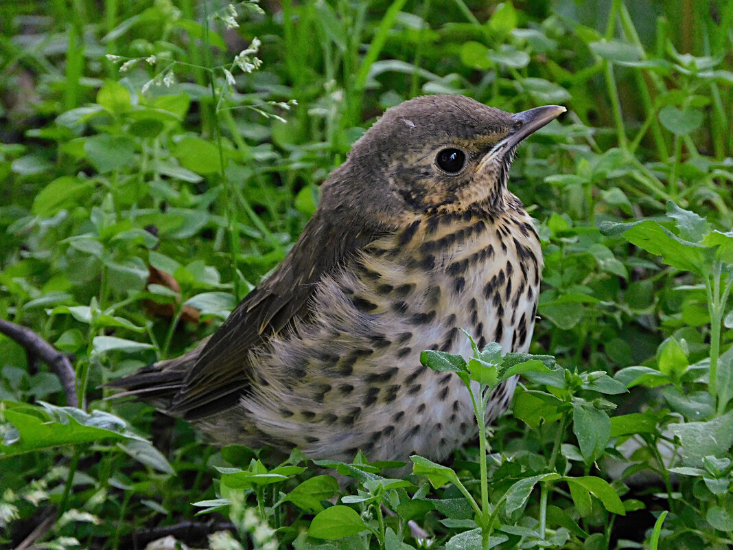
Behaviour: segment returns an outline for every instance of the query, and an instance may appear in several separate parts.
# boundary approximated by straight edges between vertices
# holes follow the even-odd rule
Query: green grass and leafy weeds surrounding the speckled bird
[[[62,408],[55,375],[0,337],[0,546],[47,517],[38,542],[53,549],[132,548],[133,533],[210,518],[229,535],[174,535],[211,549],[732,545],[733,3],[235,10],[236,27],[228,4],[191,0],[0,8],[0,318],[73,356],[89,413]],[[487,453],[418,458],[400,479],[363,455],[277,464],[103,400],[100,384],[216,330],[350,144],[423,93],[569,110],[523,144],[510,182],[545,254],[531,352],[555,359],[524,373]],[[503,372],[481,352],[482,376]]]

